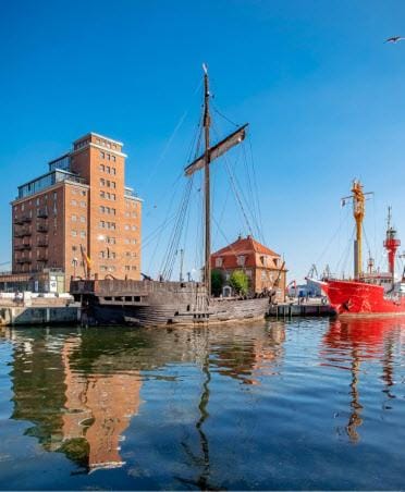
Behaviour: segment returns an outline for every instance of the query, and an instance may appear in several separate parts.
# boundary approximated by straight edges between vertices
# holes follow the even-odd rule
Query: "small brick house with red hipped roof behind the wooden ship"
[[[211,255],[211,268],[221,270],[229,280],[235,270],[243,270],[249,279],[250,293],[275,288],[283,300],[286,286],[285,265],[281,256],[251,236],[237,241]]]

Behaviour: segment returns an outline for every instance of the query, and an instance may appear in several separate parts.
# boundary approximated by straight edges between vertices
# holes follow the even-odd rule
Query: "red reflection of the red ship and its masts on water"
[[[383,392],[388,398],[394,386],[394,349],[401,346],[402,327],[405,319],[358,319],[349,321],[331,321],[322,340],[321,356],[323,364],[351,372],[349,394],[351,411],[346,425],[346,433],[353,443],[360,439],[359,428],[364,423],[365,409],[360,397],[361,364],[377,360],[381,364]],[[391,409],[389,405],[384,409]]]

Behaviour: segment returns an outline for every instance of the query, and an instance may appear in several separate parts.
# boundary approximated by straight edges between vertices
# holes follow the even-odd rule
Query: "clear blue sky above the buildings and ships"
[[[124,142],[127,183],[145,200],[144,236],[164,221],[183,190],[173,183],[189,155],[204,61],[216,107],[250,123],[262,233],[285,256],[290,279],[316,261],[345,263],[352,223],[340,198],[354,177],[376,193],[366,230],[383,261],[388,205],[405,241],[405,41],[383,42],[405,35],[404,19],[401,1],[5,2],[0,262],[10,259],[16,186],[88,131]],[[242,183],[237,152],[230,163]],[[214,165],[217,248],[247,230],[223,163]],[[198,234],[188,226],[187,270],[198,263]],[[144,271],[158,271],[169,235],[145,248]]]

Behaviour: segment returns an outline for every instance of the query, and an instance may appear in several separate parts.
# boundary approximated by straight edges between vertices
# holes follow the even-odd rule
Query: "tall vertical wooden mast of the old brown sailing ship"
[[[204,190],[205,190],[205,224],[206,224],[206,239],[205,239],[205,268],[204,280],[208,296],[211,294],[211,185],[210,185],[210,151],[209,151],[209,81],[208,69],[202,64],[204,69]]]

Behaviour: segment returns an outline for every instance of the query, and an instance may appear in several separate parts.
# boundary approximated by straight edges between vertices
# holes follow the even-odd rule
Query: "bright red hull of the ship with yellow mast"
[[[319,284],[340,318],[405,316],[405,297],[386,296],[381,285],[345,280]]]

